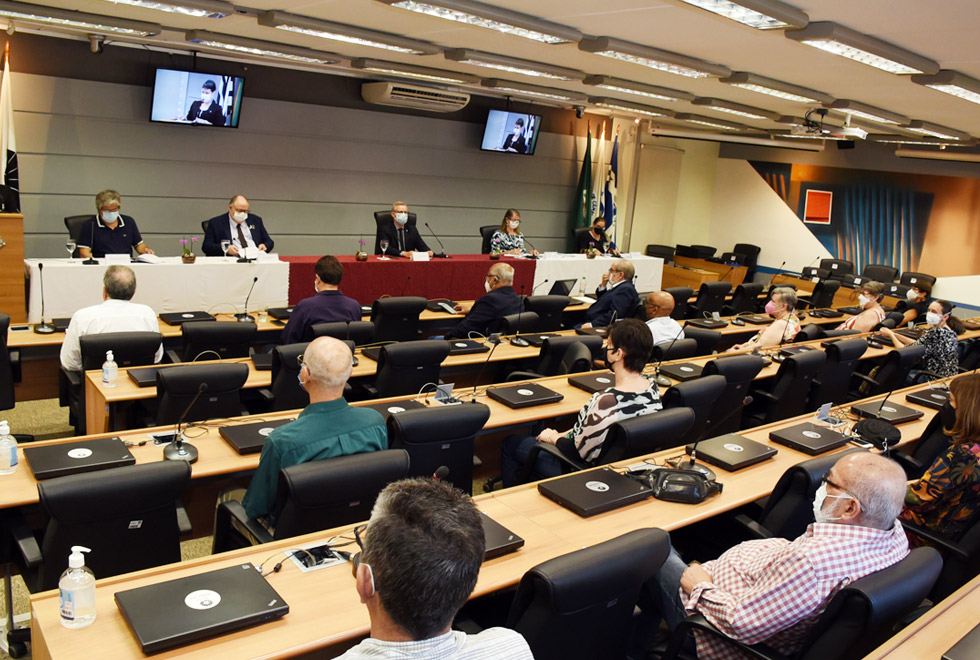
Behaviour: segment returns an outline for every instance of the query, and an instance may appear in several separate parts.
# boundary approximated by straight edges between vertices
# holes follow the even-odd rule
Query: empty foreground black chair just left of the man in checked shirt
[[[625,660],[643,584],[670,552],[660,529],[638,529],[556,557],[524,574],[507,627],[537,660]]]

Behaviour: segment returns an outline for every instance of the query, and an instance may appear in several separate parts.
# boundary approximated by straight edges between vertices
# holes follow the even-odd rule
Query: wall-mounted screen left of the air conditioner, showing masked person
[[[244,87],[238,76],[157,69],[150,121],[238,128]]]

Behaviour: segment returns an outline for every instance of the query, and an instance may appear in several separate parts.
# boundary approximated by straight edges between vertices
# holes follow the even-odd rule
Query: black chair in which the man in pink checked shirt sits
[[[943,560],[933,548],[916,548],[900,562],[851,582],[838,591],[807,633],[794,660],[857,660],[895,634],[894,628],[929,594]],[[664,660],[679,657],[694,630],[727,640],[755,658],[787,656],[765,644],[748,646],[732,641],[702,615],[685,619],[674,629]]]

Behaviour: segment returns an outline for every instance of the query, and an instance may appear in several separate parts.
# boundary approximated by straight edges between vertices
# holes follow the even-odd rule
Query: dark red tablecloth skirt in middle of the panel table
[[[314,267],[319,258],[280,257],[289,262],[290,305],[313,295]],[[453,255],[431,261],[379,261],[374,255],[367,261],[357,261],[353,255],[337,258],[344,266],[340,290],[362,305],[370,305],[383,295],[476,300],[485,293],[484,278],[495,263],[485,254]],[[501,261],[514,267],[514,290],[521,293],[524,285],[524,292],[530,295],[535,262],[506,258]]]

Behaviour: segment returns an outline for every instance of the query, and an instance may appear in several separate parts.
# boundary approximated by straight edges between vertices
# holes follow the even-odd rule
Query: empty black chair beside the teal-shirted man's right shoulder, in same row
[[[408,476],[431,477],[447,468],[439,478],[472,495],[473,439],[488,419],[482,403],[406,410],[388,418],[388,446],[408,452]]]

